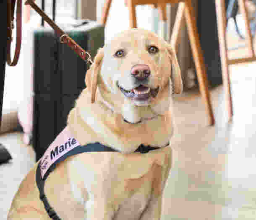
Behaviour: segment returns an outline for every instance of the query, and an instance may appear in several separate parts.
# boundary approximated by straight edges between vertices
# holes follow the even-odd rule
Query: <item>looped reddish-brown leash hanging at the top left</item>
[[[13,57],[13,61],[10,58],[10,45],[13,40],[12,33],[14,28],[14,9],[16,0],[7,1],[7,48],[6,48],[6,62],[9,66],[15,66],[18,62],[21,51],[21,24],[22,24],[22,0],[17,0],[16,8],[16,49]]]

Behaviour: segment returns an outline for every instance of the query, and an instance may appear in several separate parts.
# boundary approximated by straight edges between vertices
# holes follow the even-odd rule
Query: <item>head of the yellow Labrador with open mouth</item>
[[[183,89],[174,49],[156,34],[136,28],[99,49],[86,85],[91,103],[98,87],[105,104],[131,123],[164,114],[172,91]]]

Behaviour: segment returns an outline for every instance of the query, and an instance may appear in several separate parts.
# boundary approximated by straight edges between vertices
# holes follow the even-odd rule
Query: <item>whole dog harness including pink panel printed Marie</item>
[[[168,146],[167,143],[166,146]],[[145,146],[141,144],[135,152],[147,153],[150,150],[159,149],[158,147]],[[44,204],[44,208],[47,211],[50,218],[53,220],[60,220],[57,213],[50,206],[46,196],[44,195],[44,182],[49,176],[50,172],[56,167],[57,163],[65,160],[71,155],[76,155],[84,152],[95,152],[95,151],[118,151],[107,147],[105,145],[96,142],[94,144],[87,144],[81,146],[78,141],[73,137],[68,127],[65,127],[63,131],[55,138],[52,144],[47,148],[44,155],[40,159],[37,172],[36,181],[39,189],[39,197]]]

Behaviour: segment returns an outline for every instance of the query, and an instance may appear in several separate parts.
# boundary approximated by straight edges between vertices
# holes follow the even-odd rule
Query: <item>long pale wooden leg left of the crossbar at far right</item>
[[[225,97],[228,111],[228,119],[230,120],[233,115],[232,109],[232,97],[230,89],[230,75],[228,69],[228,56],[227,56],[227,44],[226,44],[226,13],[225,13],[225,2],[224,0],[215,0],[217,26],[219,34],[219,53],[221,59],[221,69],[223,85],[225,89]]]

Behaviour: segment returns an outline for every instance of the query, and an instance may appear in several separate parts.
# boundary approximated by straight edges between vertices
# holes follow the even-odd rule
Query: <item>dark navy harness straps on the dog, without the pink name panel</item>
[[[168,146],[169,143],[166,145]],[[166,147],[165,146],[165,147]],[[140,145],[135,152],[140,152],[140,153],[148,153],[149,150],[156,150],[159,148],[155,148],[155,147],[150,147],[150,146],[145,146],[145,145]],[[60,217],[58,217],[57,213],[52,209],[52,207],[50,206],[46,196],[44,195],[44,181],[47,179],[47,176],[49,176],[50,172],[52,172],[54,170],[54,168],[56,167],[57,163],[60,163],[61,161],[65,160],[66,158],[68,158],[69,156],[72,155],[76,155],[79,153],[85,153],[85,152],[102,152],[102,151],[118,151],[118,150],[114,150],[110,147],[107,147],[105,145],[100,144],[99,142],[96,142],[94,144],[88,144],[88,145],[84,145],[84,146],[77,146],[76,148],[74,148],[73,150],[70,150],[68,153],[64,154],[62,157],[60,157],[59,159],[57,159],[51,166],[50,168],[47,170],[47,172],[44,175],[44,178],[42,179],[41,176],[41,161],[38,163],[37,166],[37,173],[36,173],[36,181],[37,181],[37,187],[39,189],[39,193],[40,193],[40,199],[42,200],[42,202],[44,203],[44,208],[47,211],[48,215],[50,216],[50,218],[52,218],[53,220],[61,220]]]

